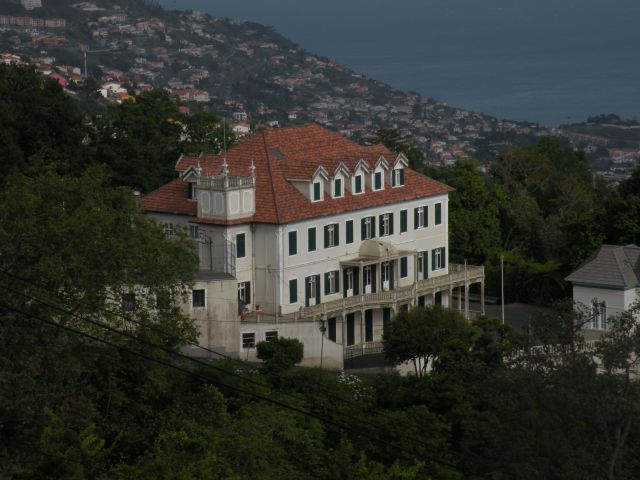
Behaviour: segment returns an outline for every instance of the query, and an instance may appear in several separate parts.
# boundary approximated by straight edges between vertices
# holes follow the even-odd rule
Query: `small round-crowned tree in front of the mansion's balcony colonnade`
[[[412,362],[417,377],[423,377],[431,361],[464,330],[460,312],[431,305],[400,310],[389,323],[382,341],[389,361]]]

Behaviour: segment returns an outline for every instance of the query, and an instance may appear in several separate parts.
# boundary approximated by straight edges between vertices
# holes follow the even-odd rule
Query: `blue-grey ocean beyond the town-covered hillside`
[[[640,117],[638,0],[160,0],[266,25],[452,106],[542,125]]]

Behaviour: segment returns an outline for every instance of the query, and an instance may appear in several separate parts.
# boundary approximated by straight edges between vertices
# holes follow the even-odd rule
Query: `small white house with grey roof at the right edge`
[[[640,300],[640,247],[603,245],[566,278],[576,303],[591,308],[590,327],[607,329],[607,318]]]

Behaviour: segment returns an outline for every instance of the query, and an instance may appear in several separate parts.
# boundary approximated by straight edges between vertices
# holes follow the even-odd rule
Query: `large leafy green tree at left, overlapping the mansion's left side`
[[[110,186],[103,170],[18,173],[0,190],[0,464],[7,460],[7,468],[38,463],[25,445],[48,425],[45,408],[78,433],[98,423],[95,435],[108,448],[135,456],[145,448],[137,440],[158,421],[152,406],[170,395],[166,368],[63,328],[165,362],[196,337],[179,311],[197,265],[190,242],[168,239],[136,213],[131,191]],[[122,295],[132,292],[135,308],[124,311]],[[157,308],[160,295],[165,305]]]

